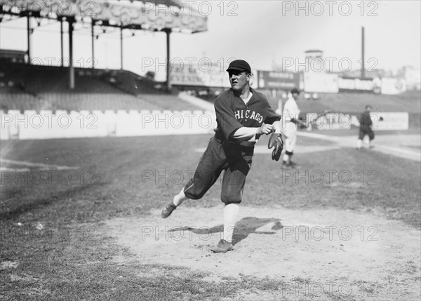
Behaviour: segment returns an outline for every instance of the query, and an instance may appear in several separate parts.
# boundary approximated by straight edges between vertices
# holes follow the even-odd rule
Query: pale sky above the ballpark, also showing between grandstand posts
[[[201,2],[206,2],[201,4]],[[194,1],[208,15],[208,31],[171,34],[171,58],[206,58],[227,64],[230,58],[247,60],[253,69],[271,70],[283,62],[304,62],[305,51],[319,49],[330,58],[332,71],[340,71],[340,60],[359,69],[361,27],[366,32],[366,67],[396,71],[406,65],[420,67],[420,1]],[[212,10],[207,11],[208,4]],[[186,8],[188,7],[185,4]],[[298,9],[300,6],[302,9]],[[222,10],[223,8],[223,10]],[[323,11],[321,11],[323,9]],[[1,48],[25,51],[26,20],[0,23]],[[45,20],[32,35],[32,58],[44,65],[60,59],[60,25]],[[78,27],[74,36],[76,67],[89,67],[91,29]],[[119,69],[119,31],[98,27],[95,58],[98,68]],[[157,72],[165,79],[166,34],[163,32],[124,32],[123,68],[145,74]],[[67,35],[65,56],[67,56]],[[54,60],[55,59],[55,60]],[[370,62],[367,61],[370,59]],[[343,63],[342,63],[343,64]],[[347,68],[347,64],[342,65]],[[291,68],[295,68],[293,65]]]

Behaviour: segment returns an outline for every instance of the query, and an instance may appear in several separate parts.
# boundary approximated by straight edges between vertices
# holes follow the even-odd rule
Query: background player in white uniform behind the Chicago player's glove
[[[286,100],[282,114],[283,135],[286,138],[282,164],[285,166],[294,166],[295,164],[291,161],[291,157],[293,156],[295,142],[297,141],[297,126],[300,123],[298,120],[300,109],[298,109],[296,102],[300,91],[297,88],[293,88],[290,93],[291,96]]]

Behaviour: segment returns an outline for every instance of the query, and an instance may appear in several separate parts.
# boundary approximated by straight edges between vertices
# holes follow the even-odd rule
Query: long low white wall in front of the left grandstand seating
[[[0,111],[1,140],[213,133],[211,111]]]

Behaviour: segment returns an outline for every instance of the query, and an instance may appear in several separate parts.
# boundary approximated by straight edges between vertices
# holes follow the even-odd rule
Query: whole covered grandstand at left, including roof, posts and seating
[[[60,2],[60,1],[59,1]],[[10,18],[27,18],[27,51],[2,50],[0,62],[1,110],[56,110],[70,111],[106,111],[112,110],[187,110],[199,109],[192,104],[182,102],[171,94],[171,86],[165,82],[156,82],[147,76],[117,69],[94,69],[73,67],[73,27],[74,24],[86,23],[95,26],[117,27],[131,30],[149,30],[165,32],[167,36],[167,55],[169,56],[169,36],[172,32],[194,33],[206,31],[206,18],[197,14],[180,16],[168,20],[165,12],[148,8],[154,6],[178,7],[177,1],[95,1],[98,12],[91,18],[82,1],[61,1],[72,9],[60,10],[60,6],[49,1],[9,2],[0,1],[2,14]],[[131,11],[128,13],[127,5]],[[141,13],[143,12],[143,13]],[[80,16],[84,17],[79,18]],[[29,27],[30,18],[47,18],[69,23],[69,66],[52,67],[32,65]],[[181,20],[182,19],[182,20]],[[63,39],[63,32],[60,33]],[[94,36],[92,36],[94,53]],[[121,41],[123,43],[123,41]],[[63,50],[63,49],[62,49]],[[94,55],[93,55],[93,58]],[[62,61],[63,61],[62,57]],[[121,53],[121,61],[123,53]],[[169,61],[169,59],[168,59]],[[122,65],[122,64],[121,64]],[[169,68],[168,68],[169,69]],[[169,78],[169,74],[168,74]],[[168,93],[170,92],[170,93]],[[159,95],[159,97],[156,97]]]

